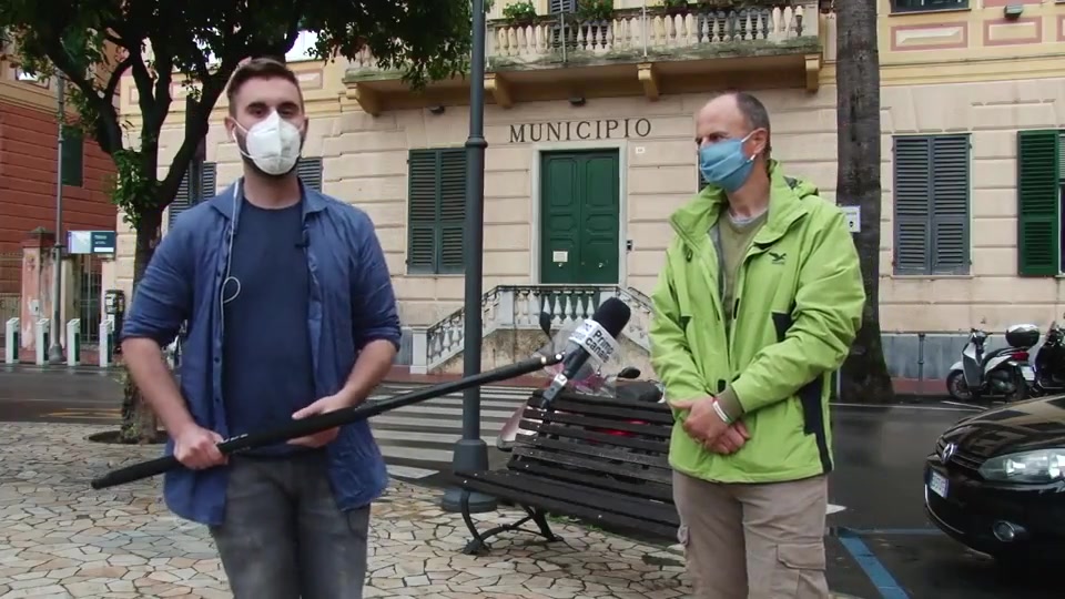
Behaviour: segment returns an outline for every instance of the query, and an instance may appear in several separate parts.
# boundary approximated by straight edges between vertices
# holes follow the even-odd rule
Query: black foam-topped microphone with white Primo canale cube
[[[591,318],[586,319],[567,339],[562,354],[562,370],[555,375],[551,386],[544,392],[544,399],[551,402],[569,384],[570,379],[591,357],[597,367],[613,355],[616,339],[629,323],[632,311],[625,302],[611,297],[602,303]]]

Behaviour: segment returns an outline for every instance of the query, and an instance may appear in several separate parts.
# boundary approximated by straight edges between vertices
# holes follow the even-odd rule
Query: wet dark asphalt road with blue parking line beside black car
[[[119,390],[112,375],[91,368],[41,373],[0,366],[0,420],[113,424]],[[939,434],[968,412],[942,402],[834,408],[838,468],[830,501],[845,508],[829,516],[834,590],[865,599],[1063,596],[1055,572],[1004,572],[929,524],[922,463]],[[501,464],[505,455],[491,461]],[[423,481],[434,484],[435,478]]]

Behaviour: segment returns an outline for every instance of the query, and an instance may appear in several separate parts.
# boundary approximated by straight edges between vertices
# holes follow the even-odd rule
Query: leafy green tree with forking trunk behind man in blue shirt
[[[80,0],[59,8],[0,0],[0,28],[30,73],[67,81],[78,125],[114,161],[112,200],[136,233],[133,288],[152,258],[163,211],[204,139],[211,112],[242,61],[283,57],[301,31],[317,34],[321,59],[354,58],[364,48],[378,65],[403,71],[415,88],[465,72],[468,2],[424,0]],[[149,50],[145,52],[145,50]],[[130,143],[118,112],[131,75],[142,124]],[[190,91],[184,139],[160,177],[159,138],[174,82]],[[134,385],[124,385],[122,439],[151,443],[155,419]]]

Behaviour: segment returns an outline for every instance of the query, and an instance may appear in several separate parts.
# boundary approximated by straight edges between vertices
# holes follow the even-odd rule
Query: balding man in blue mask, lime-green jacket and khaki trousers
[[[707,103],[696,141],[709,185],[670,219],[650,332],[688,569],[700,598],[826,599],[828,383],[861,324],[858,252],[769,158],[754,97]]]

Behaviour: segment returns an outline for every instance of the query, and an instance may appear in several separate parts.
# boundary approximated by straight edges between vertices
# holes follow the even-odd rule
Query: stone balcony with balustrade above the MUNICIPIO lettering
[[[661,7],[613,11],[608,20],[572,14],[534,22],[487,24],[486,90],[509,108],[519,101],[663,93],[720,87],[818,88],[828,29],[834,21],[818,2],[696,8],[667,13]],[[826,27],[828,26],[828,27]],[[467,78],[438,81],[413,95],[398,71],[383,70],[368,52],[346,71],[348,97],[372,114],[382,110],[463,104]]]

